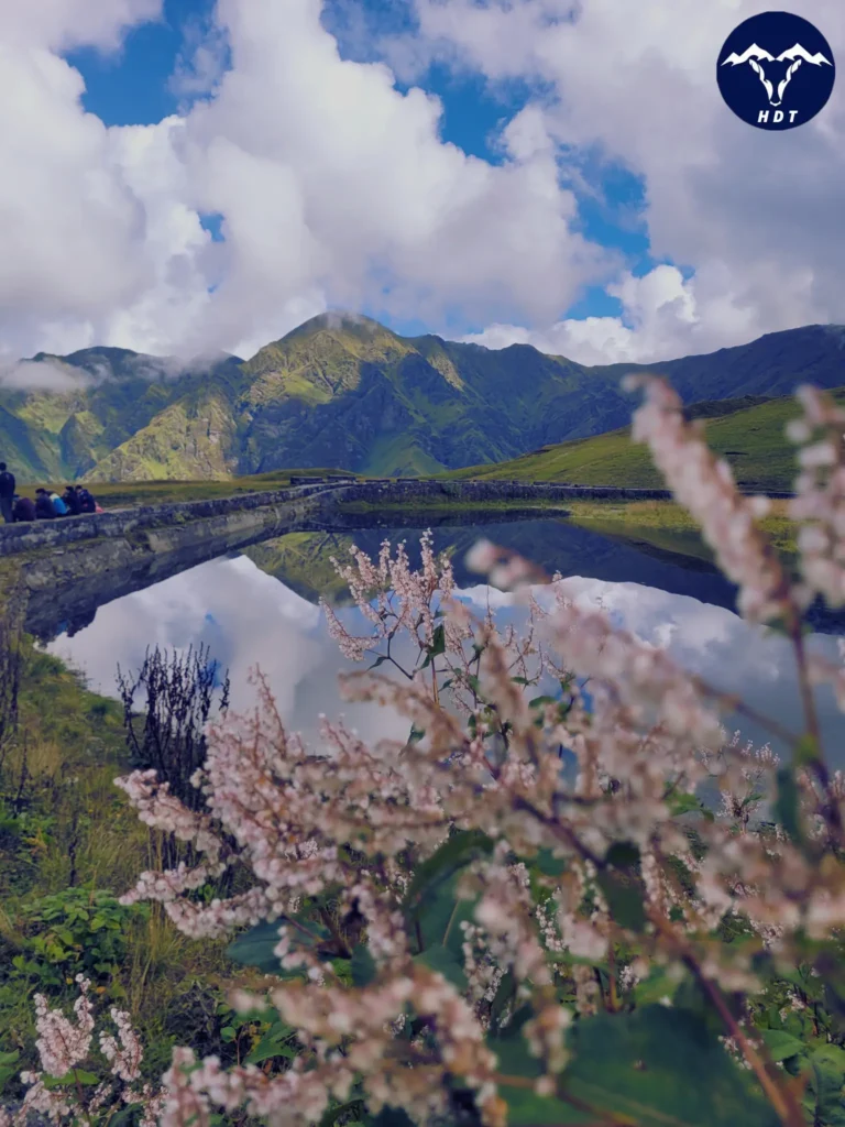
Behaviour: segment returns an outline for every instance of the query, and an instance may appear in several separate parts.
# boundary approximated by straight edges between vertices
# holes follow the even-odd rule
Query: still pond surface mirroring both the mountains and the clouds
[[[561,520],[435,529],[436,550],[453,552],[462,597],[479,611],[489,600],[501,624],[519,622],[526,612],[466,573],[463,557],[479,536],[521,551],[550,574],[560,570],[567,577],[567,593],[579,604],[603,606],[615,623],[667,646],[684,667],[738,693],[781,725],[800,727],[789,642],[742,622],[730,609],[733,588],[703,561],[670,551],[647,553]],[[361,666],[340,656],[317,605],[320,594],[337,600],[343,591],[330,556],[348,558],[353,543],[375,554],[384,539],[407,540],[411,560],[418,561],[419,529],[301,531],[114,598],[100,605],[92,621],[73,637],[64,633],[48,648],[81,668],[91,687],[113,694],[118,663],[136,668],[148,646],[183,648],[202,641],[230,668],[235,709],[255,703],[249,671],[257,666],[294,728],[314,735],[320,713],[344,713],[366,739],[404,738],[408,725],[402,718],[341,701],[337,674]],[[366,632],[357,607],[341,605],[338,613],[353,632]],[[836,659],[834,637],[817,636],[811,645]],[[837,755],[840,740],[836,738],[843,733],[843,718],[826,690],[819,692],[819,708],[829,754],[836,765],[845,765],[839,762],[845,756]],[[741,728],[744,736],[756,742],[765,739],[745,721],[732,726],[729,720],[728,726]]]

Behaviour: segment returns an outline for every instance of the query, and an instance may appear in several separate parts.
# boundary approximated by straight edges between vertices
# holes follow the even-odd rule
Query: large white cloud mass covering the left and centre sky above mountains
[[[126,2],[121,18],[153,8]],[[121,19],[89,25],[106,44]],[[319,0],[221,0],[188,76],[216,92],[143,127],[84,115],[79,74],[37,29],[33,17],[3,78],[28,108],[0,137],[6,353],[72,339],[242,354],[328,304],[367,301],[432,322],[446,309],[552,319],[611,272],[572,230],[551,145],[514,126],[496,167],[444,144],[439,101],[398,91],[384,64],[344,61]],[[224,216],[224,243],[202,229],[206,212]]]

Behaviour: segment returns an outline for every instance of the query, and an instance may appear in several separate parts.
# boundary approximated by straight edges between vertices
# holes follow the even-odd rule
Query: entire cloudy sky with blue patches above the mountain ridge
[[[840,7],[790,10],[842,57]],[[845,322],[845,83],[776,133],[717,87],[760,10],[3,5],[0,361],[248,357],[326,309],[588,364]]]

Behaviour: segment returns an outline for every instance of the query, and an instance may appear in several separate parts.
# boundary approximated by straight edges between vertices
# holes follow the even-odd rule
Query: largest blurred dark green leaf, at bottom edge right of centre
[[[665,1005],[581,1019],[567,1091],[639,1127],[779,1127],[753,1077],[694,1014]]]

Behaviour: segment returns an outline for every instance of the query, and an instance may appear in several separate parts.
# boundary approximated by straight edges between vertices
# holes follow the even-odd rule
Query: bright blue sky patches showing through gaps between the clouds
[[[86,83],[83,107],[96,114],[106,125],[148,125],[170,114],[184,112],[186,100],[174,89],[171,76],[180,57],[189,47],[192,29],[207,26],[213,17],[213,0],[164,0],[163,19],[132,28],[125,36],[119,53],[104,54],[84,47],[65,54]],[[384,36],[407,32],[411,26],[410,7],[406,0],[327,0],[323,26],[338,41],[343,57],[358,62],[377,57],[379,44]],[[443,104],[441,135],[464,152],[490,163],[501,163],[506,158],[497,144],[497,134],[539,91],[527,82],[491,85],[483,76],[466,69],[435,63],[424,74],[415,77],[415,85],[436,95]],[[403,92],[410,82],[397,80]],[[594,195],[579,193],[579,222],[577,224],[590,241],[612,248],[624,256],[625,265],[641,276],[655,265],[649,255],[649,240],[644,228],[644,186],[641,179],[621,165],[594,160],[581,171],[593,185]],[[566,180],[564,171],[561,172]],[[224,216],[203,216],[203,225],[215,241],[224,240]],[[380,310],[367,309],[374,316]],[[580,300],[560,316],[619,317],[621,302],[601,286],[588,286]],[[456,313],[454,320],[446,314],[455,332],[479,332],[483,325],[466,323]],[[391,325],[398,331],[416,334],[427,330],[419,320],[397,320]]]

